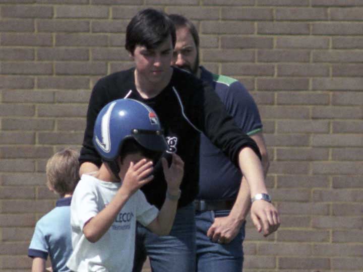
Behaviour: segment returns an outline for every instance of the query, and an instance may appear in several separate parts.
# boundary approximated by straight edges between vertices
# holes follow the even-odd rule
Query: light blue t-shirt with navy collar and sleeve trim
[[[71,200],[65,197],[56,201],[56,207],[36,224],[28,256],[47,259],[48,254],[53,271],[69,272],[66,266],[72,254]]]

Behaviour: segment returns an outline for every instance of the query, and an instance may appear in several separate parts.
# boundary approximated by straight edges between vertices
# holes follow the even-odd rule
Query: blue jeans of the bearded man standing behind
[[[216,217],[229,215],[228,211],[205,211],[196,213],[197,225],[197,271],[198,272],[241,272],[244,253],[245,225],[229,244],[214,243],[207,231]]]

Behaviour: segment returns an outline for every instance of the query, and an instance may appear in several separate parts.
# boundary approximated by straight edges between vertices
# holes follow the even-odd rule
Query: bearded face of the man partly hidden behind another
[[[176,43],[172,65],[196,75],[198,72],[198,50],[193,36],[186,27],[176,29]]]

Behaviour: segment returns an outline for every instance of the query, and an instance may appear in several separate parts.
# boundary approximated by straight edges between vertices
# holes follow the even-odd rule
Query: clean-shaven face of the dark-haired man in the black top
[[[138,76],[151,83],[160,83],[167,80],[170,73],[172,59],[172,42],[169,36],[159,46],[147,49],[143,45],[137,45],[132,55],[135,61]]]

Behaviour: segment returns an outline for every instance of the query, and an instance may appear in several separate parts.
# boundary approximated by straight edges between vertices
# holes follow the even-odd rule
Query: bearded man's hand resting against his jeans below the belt
[[[230,216],[217,217],[209,228],[207,236],[213,242],[228,244],[237,236],[243,222]]]

